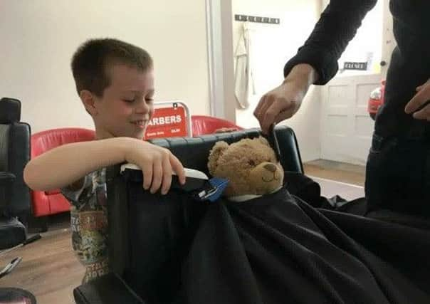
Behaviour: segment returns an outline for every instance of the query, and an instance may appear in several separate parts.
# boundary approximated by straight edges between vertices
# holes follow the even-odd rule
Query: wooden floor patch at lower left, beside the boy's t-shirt
[[[85,268],[72,250],[68,215],[51,221],[55,222],[42,239],[0,257],[1,268],[22,258],[12,273],[0,278],[0,286],[28,290],[41,304],[75,303],[72,290],[80,285]]]

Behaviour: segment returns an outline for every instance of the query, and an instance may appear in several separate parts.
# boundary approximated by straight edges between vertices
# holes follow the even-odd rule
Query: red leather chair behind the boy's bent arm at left
[[[69,144],[71,142],[86,142],[94,140],[93,130],[68,127],[46,130],[31,135],[31,158],[47,152],[55,147]],[[46,172],[49,174],[49,172]],[[32,191],[31,201],[33,204],[33,216],[46,216],[69,211],[70,203],[60,193],[60,189],[49,191]]]

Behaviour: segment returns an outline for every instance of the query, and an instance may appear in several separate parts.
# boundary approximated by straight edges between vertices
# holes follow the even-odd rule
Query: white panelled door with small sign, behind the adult
[[[393,48],[388,0],[379,0],[340,58],[340,71],[322,88],[322,159],[365,164],[374,129],[367,101],[387,73]],[[367,62],[367,70],[344,70],[344,62]]]

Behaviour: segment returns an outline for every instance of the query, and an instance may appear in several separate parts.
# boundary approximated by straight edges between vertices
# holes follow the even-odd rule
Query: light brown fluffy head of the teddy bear
[[[264,137],[216,142],[208,168],[212,176],[229,179],[226,196],[268,194],[283,184],[283,167]]]

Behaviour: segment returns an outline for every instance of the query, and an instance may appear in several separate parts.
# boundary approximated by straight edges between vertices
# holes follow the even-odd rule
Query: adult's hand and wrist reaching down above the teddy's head
[[[316,80],[315,76],[311,65],[295,65],[278,88],[263,95],[253,114],[264,134],[268,134],[273,122],[286,120],[298,111],[309,86]]]

